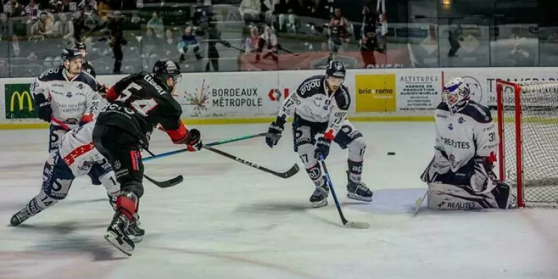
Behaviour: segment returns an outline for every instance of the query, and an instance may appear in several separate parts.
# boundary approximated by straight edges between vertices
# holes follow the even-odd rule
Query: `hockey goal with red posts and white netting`
[[[497,80],[499,178],[518,206],[558,206],[558,82]]]

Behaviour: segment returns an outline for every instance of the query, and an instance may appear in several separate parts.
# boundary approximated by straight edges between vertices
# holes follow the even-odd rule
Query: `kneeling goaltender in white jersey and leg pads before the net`
[[[490,110],[469,100],[454,77],[442,89],[435,112],[435,155],[421,175],[431,209],[507,209],[515,204],[508,184],[492,171],[499,142]]]

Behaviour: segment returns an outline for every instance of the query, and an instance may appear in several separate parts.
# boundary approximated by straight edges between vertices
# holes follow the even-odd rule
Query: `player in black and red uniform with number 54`
[[[179,65],[163,59],[155,63],[153,73],[141,72],[116,82],[107,91],[111,104],[100,112],[93,129],[93,143],[114,166],[121,185],[105,239],[126,255],[132,255],[135,246],[124,232],[134,221],[144,194],[140,149],[149,148],[153,128],[160,124],[175,144],[186,144],[190,151],[202,146],[199,130],[187,130],[181,122],[182,109],[171,94],[180,77]]]

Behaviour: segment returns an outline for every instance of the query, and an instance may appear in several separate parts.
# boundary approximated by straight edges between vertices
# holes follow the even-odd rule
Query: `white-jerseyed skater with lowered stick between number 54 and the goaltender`
[[[296,93],[285,98],[276,121],[269,126],[268,132],[276,137],[266,137],[267,145],[273,148],[285,129],[287,116],[294,114],[294,151],[299,153],[315,185],[314,193],[310,196],[314,207],[327,205],[329,187],[318,158],[320,155],[324,158],[329,155],[331,142],[336,142],[342,149],[349,149],[347,197],[372,201],[372,191],[361,182],[366,143],[359,130],[346,119],[351,99],[347,87],[342,85],[345,73],[345,66],[340,61],[330,61],[326,75],[315,75],[304,80]]]

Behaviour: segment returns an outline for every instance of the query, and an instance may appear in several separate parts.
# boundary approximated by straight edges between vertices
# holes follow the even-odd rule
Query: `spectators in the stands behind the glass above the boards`
[[[499,27],[504,40],[495,48],[483,31],[489,26],[465,20],[387,24],[386,0],[0,3],[0,77],[31,77],[58,66],[60,50],[75,42],[86,45],[100,74],[147,70],[163,57],[186,72],[320,68],[331,59],[349,68],[538,66],[531,65],[538,63],[535,52],[550,53],[558,33],[544,41],[552,44],[533,45],[529,28]],[[504,59],[492,61],[495,51]],[[558,54],[544,61],[552,57],[558,63]]]

